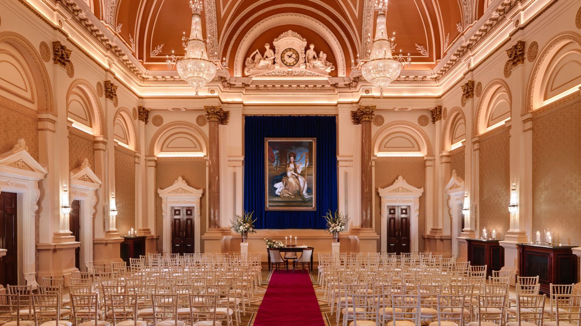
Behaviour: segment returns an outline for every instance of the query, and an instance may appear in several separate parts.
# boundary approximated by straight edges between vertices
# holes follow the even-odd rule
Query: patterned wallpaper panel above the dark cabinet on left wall
[[[121,235],[135,227],[135,158],[115,147],[115,204]]]

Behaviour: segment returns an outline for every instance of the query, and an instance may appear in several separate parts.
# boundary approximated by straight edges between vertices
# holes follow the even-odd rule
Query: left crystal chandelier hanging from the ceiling
[[[187,81],[198,95],[198,90],[214,79],[220,62],[208,59],[206,43],[202,39],[202,16],[200,15],[202,0],[190,1],[189,8],[192,9],[192,30],[189,37],[185,36],[185,32],[182,36],[185,56],[183,59],[178,59],[172,51],[171,57],[166,57],[166,62],[170,69],[177,67],[180,78]]]

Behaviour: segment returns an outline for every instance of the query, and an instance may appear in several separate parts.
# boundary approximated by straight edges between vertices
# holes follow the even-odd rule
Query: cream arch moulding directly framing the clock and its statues
[[[313,20],[311,17],[307,15],[302,15],[299,13],[281,13],[278,15],[273,15],[267,17],[266,19],[261,20],[255,26],[250,28],[248,33],[242,38],[240,45],[236,49],[236,56],[234,59],[234,75],[236,77],[242,77],[242,64],[245,62],[246,52],[250,48],[250,45],[259,37],[259,35],[266,32],[268,29],[281,26],[283,24],[297,24],[299,26],[304,26],[313,29],[314,31],[318,32],[325,41],[331,46],[333,50],[333,54],[335,55],[335,59],[337,60],[338,66],[338,76],[345,77],[346,75],[346,67],[345,67],[345,53],[343,53],[343,49],[339,44],[339,40],[335,37],[333,32],[329,30],[327,26],[322,24],[320,21]],[[235,36],[236,38],[236,36]],[[235,39],[234,38],[234,39]],[[228,56],[231,51],[233,44],[230,44],[228,48]],[[349,42],[347,42],[349,46]]]

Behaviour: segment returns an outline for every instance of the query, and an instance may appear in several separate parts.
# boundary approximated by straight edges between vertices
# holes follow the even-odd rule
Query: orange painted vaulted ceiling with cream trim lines
[[[98,3],[99,0],[94,0]],[[113,2],[112,2],[113,1]],[[446,50],[460,35],[457,24],[463,30],[477,16],[482,15],[482,5],[485,0],[390,0],[387,12],[388,32],[396,32],[396,49],[410,53],[413,61],[423,63],[414,68],[430,69],[446,55]],[[149,70],[167,70],[164,64],[165,56],[175,50],[182,55],[182,32],[189,34],[191,10],[188,0],[101,0],[102,6],[114,3],[113,24],[110,26],[123,41],[134,49],[134,55]],[[243,38],[248,31],[260,25],[260,22],[272,19],[274,16],[301,15],[310,17],[328,28],[340,44],[345,56],[347,74],[352,66],[351,60],[357,55],[363,56],[365,39],[365,5],[373,5],[374,0],[205,0],[202,22],[203,32],[213,30],[206,26],[206,17],[215,8],[217,57],[226,57],[231,74],[234,73],[234,60]],[[464,5],[463,5],[464,3]],[[474,6],[475,10],[464,9]],[[95,14],[101,15],[99,6]],[[478,10],[480,9],[480,10]],[[464,10],[470,10],[465,18]],[[371,15],[376,15],[373,12]],[[371,17],[368,15],[368,17]],[[103,19],[103,17],[101,17]],[[375,19],[372,20],[372,24]],[[302,25],[302,30],[310,29],[315,34],[321,34],[312,26],[289,20],[289,26]],[[281,28],[270,28],[261,34],[261,39],[278,37]],[[284,29],[284,28],[283,28]],[[368,30],[367,30],[368,31]],[[374,27],[371,32],[373,33]],[[208,35],[206,35],[208,37]],[[307,42],[318,41],[309,39]],[[252,40],[251,40],[252,41]],[[329,42],[327,42],[329,43]],[[418,50],[423,46],[425,53]],[[316,46],[316,44],[315,44]],[[329,44],[321,44],[318,48],[329,48]],[[350,49],[347,50],[347,49]],[[242,49],[243,50],[243,49]],[[261,49],[263,50],[263,49]],[[336,58],[337,55],[333,55]]]

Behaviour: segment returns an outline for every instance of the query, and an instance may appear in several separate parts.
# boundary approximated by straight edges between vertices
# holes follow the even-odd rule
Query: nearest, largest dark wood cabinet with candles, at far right
[[[520,276],[539,276],[540,292],[548,294],[550,284],[577,282],[575,245],[517,244]]]

